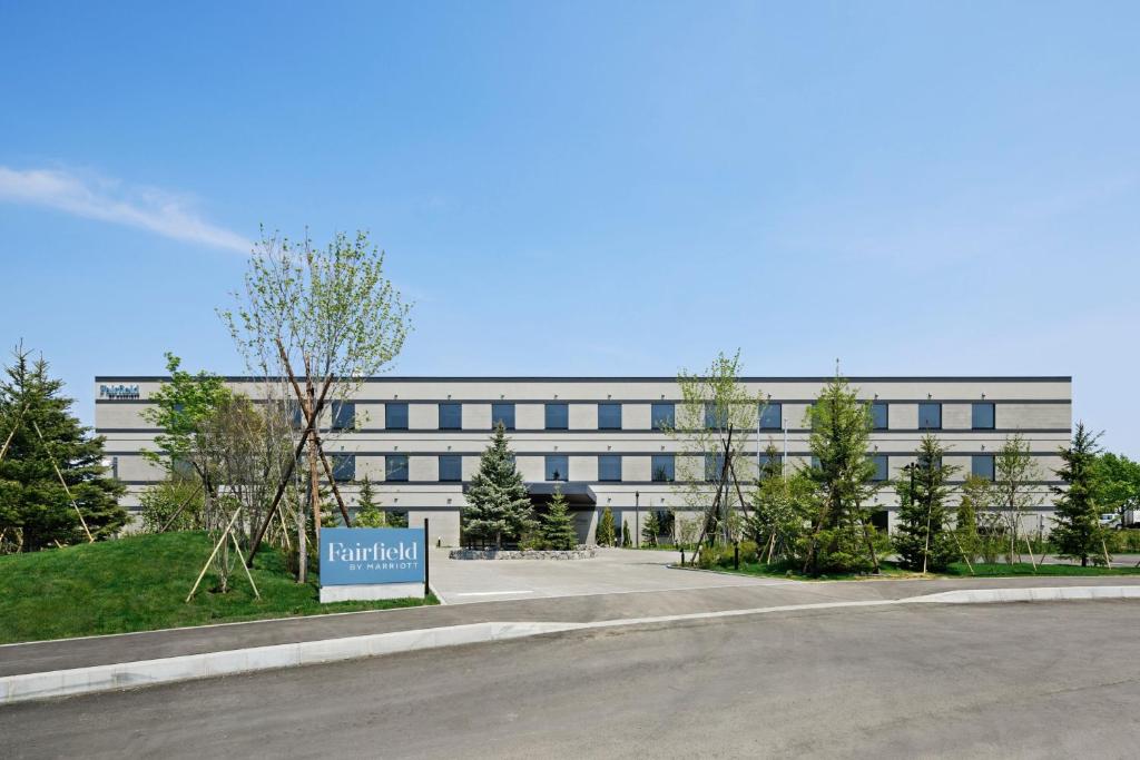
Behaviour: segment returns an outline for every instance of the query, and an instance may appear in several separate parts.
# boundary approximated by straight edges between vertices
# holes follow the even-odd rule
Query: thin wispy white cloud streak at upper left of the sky
[[[19,171],[0,166],[0,201],[58,209],[215,248],[249,253],[252,247],[241,235],[202,219],[186,198],[55,169]]]

